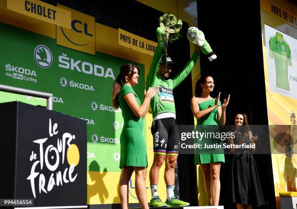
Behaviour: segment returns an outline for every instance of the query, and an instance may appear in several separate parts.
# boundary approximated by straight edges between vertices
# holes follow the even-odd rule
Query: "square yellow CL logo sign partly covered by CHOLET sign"
[[[95,54],[95,17],[60,4],[57,6],[71,12],[71,29],[57,26],[57,44]]]

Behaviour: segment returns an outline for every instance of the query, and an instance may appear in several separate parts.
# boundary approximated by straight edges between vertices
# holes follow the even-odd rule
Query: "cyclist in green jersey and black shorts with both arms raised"
[[[174,78],[169,79],[171,65],[174,64],[167,55],[162,55],[165,49],[165,28],[157,29],[158,46],[150,65],[147,76],[146,88],[158,87],[159,93],[150,101],[153,115],[151,133],[153,135],[154,160],[149,172],[150,189],[152,199],[151,207],[182,207],[189,203],[176,198],[174,195],[174,169],[180,147],[180,136],[177,123],[175,121],[175,104],[173,89],[177,87],[191,72],[199,55],[198,46],[189,62]],[[163,202],[157,193],[159,171],[165,160],[165,184],[167,198]]]

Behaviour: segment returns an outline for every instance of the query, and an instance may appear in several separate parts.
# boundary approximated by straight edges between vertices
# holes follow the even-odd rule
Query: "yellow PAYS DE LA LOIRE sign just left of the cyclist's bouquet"
[[[120,28],[118,29],[118,44],[150,56],[154,55],[155,49],[158,45],[156,42],[131,34]]]

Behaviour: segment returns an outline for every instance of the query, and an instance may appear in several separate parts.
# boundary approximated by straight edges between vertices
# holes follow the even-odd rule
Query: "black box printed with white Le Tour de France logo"
[[[86,122],[20,102],[0,104],[0,117],[0,198],[87,208]]]

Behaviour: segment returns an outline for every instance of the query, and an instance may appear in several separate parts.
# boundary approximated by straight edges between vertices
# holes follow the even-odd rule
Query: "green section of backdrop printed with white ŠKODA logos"
[[[117,157],[120,144],[113,141],[120,139],[123,119],[121,112],[113,111],[111,95],[119,68],[131,61],[105,53],[91,55],[68,49],[56,45],[56,39],[3,23],[0,23],[0,31],[0,84],[52,93],[55,111],[82,118],[88,123],[88,170],[89,163],[96,160],[102,171],[107,168],[107,171],[120,172]],[[41,46],[35,52],[39,45],[45,47]],[[49,51],[42,51],[46,48],[52,59]],[[48,65],[46,62],[51,63],[48,68],[44,68]],[[144,65],[135,64],[144,75]],[[134,89],[143,101],[144,76],[138,82]],[[92,102],[96,102],[97,109],[91,108]],[[114,128],[114,122],[119,124],[118,127],[115,125]],[[96,143],[91,139],[94,134],[97,135],[94,139],[98,139]]]

